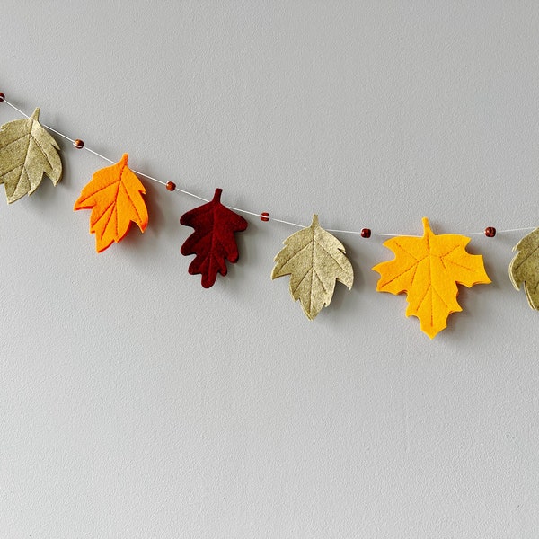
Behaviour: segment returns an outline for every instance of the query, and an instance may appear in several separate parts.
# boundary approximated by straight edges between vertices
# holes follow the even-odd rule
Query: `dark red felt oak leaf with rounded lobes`
[[[183,214],[181,225],[192,226],[193,234],[181,245],[181,254],[196,254],[190,263],[190,275],[202,274],[202,286],[212,287],[217,273],[226,275],[226,260],[237,262],[238,246],[234,232],[247,228],[247,221],[221,204],[222,189],[216,189],[213,200]]]

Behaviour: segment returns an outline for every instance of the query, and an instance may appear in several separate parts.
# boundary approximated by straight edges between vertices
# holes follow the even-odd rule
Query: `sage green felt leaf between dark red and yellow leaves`
[[[345,256],[344,246],[318,224],[318,216],[307,228],[292,234],[275,257],[271,278],[290,275],[290,294],[300,300],[305,316],[314,320],[324,306],[330,305],[335,282],[351,288],[354,270]]]

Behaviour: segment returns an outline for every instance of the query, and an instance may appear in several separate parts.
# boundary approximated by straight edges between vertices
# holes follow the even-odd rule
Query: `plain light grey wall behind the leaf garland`
[[[539,223],[539,4],[4,1],[0,90],[162,181],[331,229]],[[21,116],[0,105],[2,123]],[[525,233],[473,236],[493,283],[435,340],[376,293],[383,238],[309,322],[270,280],[296,228],[248,217],[208,290],[150,224],[97,254],[73,211],[107,163],[0,207],[0,535],[11,539],[536,538],[539,314]]]

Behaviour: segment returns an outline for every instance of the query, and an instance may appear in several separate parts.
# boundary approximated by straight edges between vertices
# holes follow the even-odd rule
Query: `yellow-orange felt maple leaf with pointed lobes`
[[[462,311],[456,283],[465,287],[488,284],[480,254],[470,254],[462,235],[433,234],[423,219],[423,237],[399,236],[384,242],[395,253],[393,261],[377,264],[378,292],[407,293],[406,316],[417,316],[421,330],[434,338],[447,325],[447,316]]]

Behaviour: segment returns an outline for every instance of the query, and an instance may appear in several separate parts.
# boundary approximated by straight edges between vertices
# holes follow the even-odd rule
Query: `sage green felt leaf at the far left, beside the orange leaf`
[[[43,174],[54,185],[62,176],[60,148],[39,118],[40,109],[36,109],[30,118],[15,119],[0,128],[0,183],[10,204],[38,189]]]

